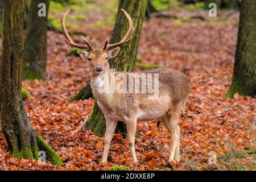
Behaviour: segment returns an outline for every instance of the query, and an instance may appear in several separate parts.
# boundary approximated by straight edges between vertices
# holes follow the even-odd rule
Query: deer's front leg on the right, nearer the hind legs
[[[125,122],[126,122],[126,127],[127,127],[127,139],[128,139],[128,143],[129,143],[130,150],[131,150],[131,156],[133,158],[133,163],[138,164],[138,160],[137,160],[136,154],[135,154],[135,146],[134,146],[137,119],[132,118]]]

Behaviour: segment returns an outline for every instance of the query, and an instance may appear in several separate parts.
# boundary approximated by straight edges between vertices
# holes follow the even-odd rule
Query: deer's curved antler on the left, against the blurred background
[[[82,48],[82,49],[92,50],[92,47],[86,41],[86,39],[83,38],[83,40],[85,41],[86,45],[81,45],[81,44],[77,44],[77,43],[73,42],[73,40],[69,36],[69,34],[68,34],[67,30],[66,30],[66,27],[65,27],[65,18],[66,18],[67,14],[69,12],[70,12],[70,10],[67,11],[66,13],[64,13],[63,16],[61,16],[61,18],[60,18],[61,28],[62,28],[63,34],[65,36],[65,41],[67,42],[67,44],[69,44],[71,46],[74,46],[74,47],[77,47],[77,48]]]

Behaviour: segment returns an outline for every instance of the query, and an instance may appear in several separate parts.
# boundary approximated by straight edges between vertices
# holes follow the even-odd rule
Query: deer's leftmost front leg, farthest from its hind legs
[[[111,119],[109,117],[106,117],[106,132],[105,132],[105,137],[104,137],[104,151],[103,151],[103,155],[102,155],[102,159],[101,162],[105,163],[107,162],[108,159],[108,154],[109,154],[109,146],[110,146],[110,142],[112,140],[114,131],[115,131],[115,127],[117,126],[117,121],[115,121],[114,119]]]

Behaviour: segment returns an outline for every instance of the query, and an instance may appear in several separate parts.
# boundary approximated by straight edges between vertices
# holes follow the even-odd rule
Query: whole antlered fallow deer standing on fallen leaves
[[[184,73],[170,68],[151,69],[141,72],[146,75],[158,75],[158,80],[155,81],[158,81],[159,93],[158,97],[154,99],[150,99],[148,93],[102,93],[98,90],[99,88],[108,86],[106,85],[106,82],[100,78],[100,75],[102,74],[105,74],[107,80],[114,79],[119,73],[126,75],[127,77],[129,77],[129,74],[133,78],[138,77],[138,73],[113,73],[110,71],[109,59],[113,59],[117,56],[119,51],[118,46],[129,42],[134,34],[133,20],[125,10],[121,9],[121,11],[129,20],[129,29],[120,42],[108,44],[107,40],[103,49],[93,49],[83,37],[82,40],[84,40],[85,44],[77,44],[73,42],[65,28],[65,17],[69,11],[64,13],[61,17],[61,27],[64,32],[65,41],[71,46],[84,49],[77,51],[77,53],[82,59],[89,61],[90,85],[92,87],[93,95],[97,99],[97,104],[105,115],[105,146],[101,162],[107,161],[110,142],[115,127],[117,126],[117,122],[123,121],[127,126],[127,139],[133,163],[138,163],[134,147],[137,121],[150,121],[153,119],[159,119],[171,133],[169,161],[179,161],[180,127],[178,126],[178,122],[191,89],[191,81]],[[146,86],[147,84],[148,82],[146,83]],[[114,81],[114,86],[117,85],[118,82]],[[139,85],[142,85],[142,83],[140,82]],[[134,87],[134,85],[132,86]]]

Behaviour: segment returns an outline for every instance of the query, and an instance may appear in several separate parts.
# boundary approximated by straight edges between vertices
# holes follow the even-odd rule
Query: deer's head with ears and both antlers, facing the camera
[[[131,40],[134,34],[133,20],[125,10],[121,9],[121,11],[123,12],[123,14],[125,14],[126,18],[129,21],[129,29],[127,30],[125,36],[123,36],[120,42],[114,43],[114,44],[108,44],[108,39],[107,39],[105,42],[104,48],[102,49],[101,48],[93,49],[93,47],[90,46],[89,42],[84,37],[82,37],[82,40],[85,42],[85,44],[77,44],[73,42],[73,40],[71,39],[71,37],[69,36],[65,28],[65,18],[70,11],[67,11],[66,13],[64,13],[60,19],[61,27],[65,36],[66,43],[73,47],[84,49],[84,50],[77,51],[77,53],[82,57],[82,59],[89,61],[90,75],[98,75],[99,73],[102,73],[102,72],[108,72],[109,59],[112,59],[115,56],[117,56],[119,52],[118,46],[121,46],[122,44],[129,42],[129,40]],[[113,49],[110,49],[110,48],[113,48]]]

